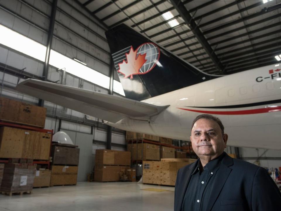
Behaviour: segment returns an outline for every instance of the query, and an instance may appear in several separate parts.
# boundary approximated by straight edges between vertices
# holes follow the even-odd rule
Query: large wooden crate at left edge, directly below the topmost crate
[[[51,134],[13,127],[0,128],[0,158],[49,160]]]

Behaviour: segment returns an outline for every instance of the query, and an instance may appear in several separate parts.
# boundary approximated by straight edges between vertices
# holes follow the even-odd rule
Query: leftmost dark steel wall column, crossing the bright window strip
[[[47,39],[47,50],[46,50],[46,57],[45,57],[45,63],[44,63],[44,69],[43,69],[43,80],[47,81],[48,77],[48,70],[49,70],[49,59],[50,59],[50,51],[52,47],[52,40],[53,40],[53,32],[54,32],[54,25],[55,25],[55,19],[56,19],[56,7],[57,7],[58,0],[53,0],[52,3],[52,13],[50,17],[50,24],[49,24],[49,32],[48,32],[48,39]],[[44,100],[39,100],[39,106],[44,106]]]

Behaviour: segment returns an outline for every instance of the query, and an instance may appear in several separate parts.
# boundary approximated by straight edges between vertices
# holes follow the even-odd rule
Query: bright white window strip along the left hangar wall
[[[47,49],[46,46],[40,44],[39,42],[35,42],[34,40],[27,38],[1,24],[0,32],[0,43],[2,45],[10,47],[42,62],[45,61]],[[108,76],[85,66],[85,63],[76,58],[71,59],[54,50],[51,50],[49,64],[58,69],[65,68],[66,72],[109,89]],[[113,91],[125,96],[124,90],[119,81],[114,80]]]

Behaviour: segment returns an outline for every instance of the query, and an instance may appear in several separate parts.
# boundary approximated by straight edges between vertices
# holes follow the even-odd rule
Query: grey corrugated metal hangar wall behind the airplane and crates
[[[0,1],[0,24],[46,46],[51,5],[51,0]],[[87,67],[109,76],[110,53],[104,31],[105,28],[75,0],[58,0],[52,49],[71,59],[77,58],[85,62]],[[18,93],[14,87],[23,81],[25,74],[34,78],[42,77],[44,62],[2,44],[0,52],[0,96],[38,104],[39,99]],[[58,70],[50,65],[47,79],[62,83],[63,70],[64,66]],[[114,79],[119,81],[116,72]],[[65,84],[108,93],[108,89],[70,73],[66,73]],[[105,148],[106,127],[97,118],[90,120],[85,118],[83,113],[47,101],[44,106],[47,108],[45,127],[55,132],[66,131],[74,142],[81,146],[79,166],[81,173],[78,180],[85,180],[86,172],[90,173],[94,165],[95,150]],[[124,131],[113,130],[112,143],[115,144],[112,149],[125,150]],[[239,150],[241,156],[248,158],[250,162],[257,160],[251,158],[259,156],[275,157],[275,160],[259,159],[260,165],[281,166],[281,151],[267,150],[263,154],[263,149],[239,148]],[[227,151],[234,153],[234,148],[228,147]]]

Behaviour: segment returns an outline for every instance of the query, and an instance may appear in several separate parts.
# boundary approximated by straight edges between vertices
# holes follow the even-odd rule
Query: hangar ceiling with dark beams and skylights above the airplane
[[[281,54],[281,0],[76,1],[105,29],[125,23],[210,74],[275,64]]]

